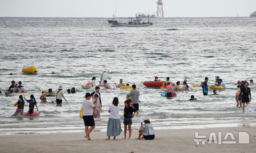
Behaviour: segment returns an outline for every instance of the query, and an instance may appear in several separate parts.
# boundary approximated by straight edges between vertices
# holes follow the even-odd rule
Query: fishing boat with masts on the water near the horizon
[[[133,19],[133,17],[114,17],[113,15],[113,19],[108,20],[108,22],[111,24],[111,27],[141,27],[153,25],[153,23],[149,21],[149,17],[139,18],[137,14],[136,19]]]

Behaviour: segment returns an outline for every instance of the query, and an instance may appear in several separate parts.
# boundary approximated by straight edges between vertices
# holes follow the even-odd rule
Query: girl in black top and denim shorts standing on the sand
[[[134,112],[134,114],[132,114]],[[124,134],[125,137],[123,139],[126,139],[126,131],[127,131],[127,125],[128,125],[128,129],[129,129],[129,138],[131,139],[131,125],[132,125],[132,118],[134,117],[134,115],[136,114],[136,110],[130,106],[130,101],[126,100],[125,101],[125,108],[124,108]]]

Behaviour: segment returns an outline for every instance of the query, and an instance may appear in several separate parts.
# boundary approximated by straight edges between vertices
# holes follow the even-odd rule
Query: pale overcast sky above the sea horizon
[[[256,0],[162,0],[164,17],[249,16]],[[117,17],[156,14],[156,0],[0,0],[0,17]]]

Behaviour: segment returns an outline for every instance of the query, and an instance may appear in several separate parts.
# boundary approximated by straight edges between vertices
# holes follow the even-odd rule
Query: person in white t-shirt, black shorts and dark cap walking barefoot
[[[93,109],[96,109],[96,103],[93,104],[92,101],[90,101],[92,95],[90,93],[85,94],[85,100],[83,101],[83,120],[84,120],[84,126],[85,126],[85,138],[88,140],[92,140],[90,138],[90,133],[95,128],[95,122],[93,118]],[[90,128],[89,128],[90,126]]]

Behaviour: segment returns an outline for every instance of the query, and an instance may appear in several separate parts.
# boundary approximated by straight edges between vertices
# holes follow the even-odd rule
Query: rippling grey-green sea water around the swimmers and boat
[[[95,120],[96,131],[106,130],[108,107],[119,98],[120,120],[129,89],[114,88],[114,83],[136,84],[140,91],[140,114],[133,119],[133,129],[146,117],[156,129],[254,125],[255,116],[236,107],[237,80],[256,80],[256,18],[163,18],[152,19],[148,27],[110,27],[106,18],[9,18],[0,17],[0,134],[84,131],[79,118],[83,96],[81,85],[103,71],[113,89],[100,90],[103,111]],[[176,28],[178,30],[168,30]],[[22,68],[35,65],[38,73],[24,74]],[[81,73],[85,71],[85,73]],[[55,72],[56,74],[43,74]],[[13,75],[7,75],[12,73]],[[188,80],[190,91],[177,97],[162,97],[162,89],[148,88],[143,81],[158,76],[165,80]],[[219,96],[203,96],[204,77],[213,84],[220,76],[227,89]],[[20,94],[6,97],[11,80],[22,85],[38,101],[40,116],[14,117],[13,104]],[[63,85],[68,102],[56,106],[40,102],[42,91],[57,91]],[[67,94],[75,87],[76,94]],[[251,85],[252,103],[256,86]],[[23,94],[29,99],[30,94]],[[198,101],[189,101],[194,95]],[[51,101],[54,97],[47,97]],[[28,110],[28,103],[24,111]],[[217,127],[218,127],[217,126]]]

